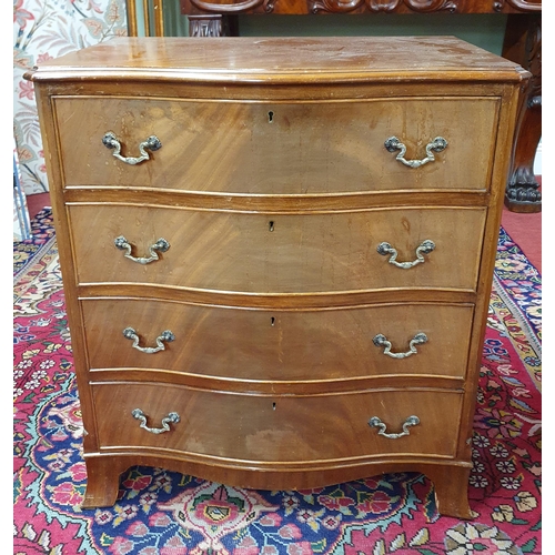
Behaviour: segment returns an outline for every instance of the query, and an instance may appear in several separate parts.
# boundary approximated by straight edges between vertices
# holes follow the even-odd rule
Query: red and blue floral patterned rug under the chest
[[[14,243],[14,554],[539,554],[538,272],[502,230],[473,437],[471,522],[440,516],[433,485],[392,474],[301,492],[229,487],[133,467],[114,507],[87,483],[50,211]]]

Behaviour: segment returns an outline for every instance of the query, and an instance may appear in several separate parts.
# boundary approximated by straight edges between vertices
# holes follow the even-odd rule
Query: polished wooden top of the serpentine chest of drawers
[[[117,38],[50,60],[33,81],[518,81],[517,64],[455,37]]]

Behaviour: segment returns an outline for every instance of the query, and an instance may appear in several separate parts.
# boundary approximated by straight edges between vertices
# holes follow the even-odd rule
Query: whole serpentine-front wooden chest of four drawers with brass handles
[[[30,72],[88,487],[467,480],[527,73],[450,37],[115,39]]]

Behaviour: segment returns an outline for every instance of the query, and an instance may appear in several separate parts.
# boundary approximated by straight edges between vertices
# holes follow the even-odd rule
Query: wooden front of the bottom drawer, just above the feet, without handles
[[[436,391],[380,391],[342,395],[271,397],[192,390],[160,384],[92,384],[102,450],[161,448],[228,461],[311,462],[391,455],[455,454],[462,395]],[[147,425],[162,427],[175,412],[180,422],[168,433],[140,427],[131,413],[141,410]],[[392,440],[369,425],[373,416],[386,433],[400,433],[412,415],[420,424]]]

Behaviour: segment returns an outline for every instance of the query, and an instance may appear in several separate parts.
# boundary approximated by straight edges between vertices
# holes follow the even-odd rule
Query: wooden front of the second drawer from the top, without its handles
[[[201,290],[302,293],[383,287],[474,290],[485,209],[392,209],[266,215],[124,205],[72,205],[79,283],[158,283]],[[271,223],[273,222],[273,223]],[[273,231],[270,231],[270,230]],[[93,230],[93,231],[91,231]],[[92,235],[91,235],[92,233]],[[145,265],[114,246],[123,235],[135,256],[160,238],[170,243]],[[425,240],[435,250],[408,270]]]

